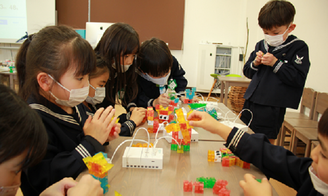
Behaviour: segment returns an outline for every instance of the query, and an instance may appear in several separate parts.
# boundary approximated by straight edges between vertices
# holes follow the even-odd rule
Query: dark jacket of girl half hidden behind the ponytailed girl
[[[96,107],[96,105],[92,105],[90,103],[88,103],[88,105],[92,110],[86,107],[87,115],[94,117],[94,113],[97,111],[98,108]],[[133,135],[136,128],[136,123],[130,120],[131,114],[132,111],[128,112],[127,114],[121,114],[117,117],[119,118],[118,123],[121,123],[121,132],[119,133],[120,136],[131,137]]]

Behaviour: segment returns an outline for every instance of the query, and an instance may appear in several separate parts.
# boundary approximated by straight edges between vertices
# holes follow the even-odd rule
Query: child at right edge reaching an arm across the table
[[[269,178],[295,189],[297,196],[328,196],[328,109],[318,124],[320,145],[311,151],[311,158],[299,158],[284,147],[271,145],[263,134],[248,134],[236,127],[233,129],[213,119],[206,112],[193,112],[189,124],[202,127],[211,133],[220,135],[225,144],[241,160],[252,163],[267,178],[262,183],[251,174],[245,174],[245,180],[239,185],[245,196],[272,196]]]

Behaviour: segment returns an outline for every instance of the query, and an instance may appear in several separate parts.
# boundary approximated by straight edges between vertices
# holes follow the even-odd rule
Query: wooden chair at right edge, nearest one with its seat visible
[[[287,119],[286,123],[293,126],[290,150],[296,153],[298,140],[305,143],[305,157],[310,156],[311,142],[318,138],[318,117],[328,108],[328,93],[318,93],[315,100],[313,120]],[[299,122],[295,122],[298,120]]]

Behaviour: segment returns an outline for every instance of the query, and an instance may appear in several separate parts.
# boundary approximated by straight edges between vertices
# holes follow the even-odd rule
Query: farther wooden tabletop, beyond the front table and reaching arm
[[[189,107],[188,107],[187,104],[182,104],[182,106],[186,109],[187,112],[190,111],[190,109],[189,109]],[[230,109],[227,106],[225,106],[223,103],[218,103],[218,107],[221,108],[223,110],[223,112],[230,111]],[[222,111],[220,111],[220,112],[223,113]],[[157,112],[155,111],[154,113],[155,113],[154,116],[156,117],[157,116]],[[224,114],[222,114],[222,116],[224,117]],[[227,115],[227,118],[229,118],[229,119],[233,119],[233,118],[236,118],[236,117],[237,116],[234,113],[232,113],[232,112],[229,112],[228,115]],[[224,121],[224,118],[220,119],[219,121],[220,122]],[[233,120],[230,120],[230,121],[233,121]],[[244,124],[240,119],[237,119],[236,120],[236,123]],[[144,127],[144,128],[147,129],[148,128],[147,122],[139,125],[136,128],[136,131],[139,128],[141,128],[141,127]],[[205,130],[203,128],[195,127],[194,129],[199,134],[198,135],[198,140],[199,141],[218,141],[218,142],[225,142],[225,140],[221,136],[219,136],[217,134],[213,134],[213,133],[211,133],[211,132],[209,132],[209,131],[207,131],[207,130]],[[135,131],[135,133],[136,133],[136,131]],[[247,132],[250,133],[250,134],[253,134],[254,133],[250,128],[248,129]],[[156,135],[156,133],[150,133],[149,134],[150,138],[155,138],[155,135]],[[161,130],[158,133],[157,138],[162,137],[162,136],[163,136],[163,131]],[[146,131],[144,131],[144,130],[140,130],[138,132],[137,136],[136,136],[136,138],[147,138],[147,137],[148,137],[148,135],[147,135]]]

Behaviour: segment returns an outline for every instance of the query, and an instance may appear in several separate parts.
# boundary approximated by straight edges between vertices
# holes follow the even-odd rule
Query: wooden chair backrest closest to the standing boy
[[[305,107],[310,108],[310,114],[308,116],[309,120],[313,119],[314,114],[314,105],[315,105],[315,98],[317,96],[317,92],[311,88],[305,88],[302,95],[301,101],[301,113],[305,113]]]

